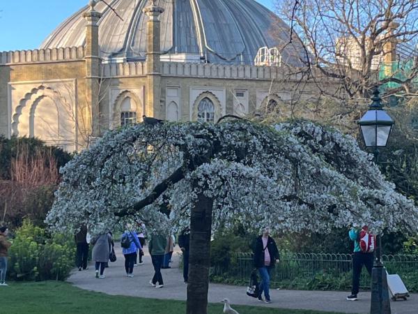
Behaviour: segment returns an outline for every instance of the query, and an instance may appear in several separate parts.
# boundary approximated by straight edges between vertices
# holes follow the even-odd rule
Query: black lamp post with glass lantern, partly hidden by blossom
[[[373,91],[373,102],[369,110],[358,121],[360,132],[366,147],[374,149],[376,163],[378,163],[378,148],[386,147],[389,135],[392,132],[394,121],[385,112],[380,103],[379,89],[376,86]],[[387,289],[386,269],[382,264],[382,240],[380,234],[377,236],[378,247],[376,249],[375,261],[371,272],[371,314],[390,314],[389,290]]]

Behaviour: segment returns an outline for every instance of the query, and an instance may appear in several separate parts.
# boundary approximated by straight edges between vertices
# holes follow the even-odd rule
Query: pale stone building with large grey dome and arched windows
[[[215,122],[291,97],[302,45],[255,0],[108,3],[90,1],[39,49],[0,52],[0,134],[72,151],[144,114]]]

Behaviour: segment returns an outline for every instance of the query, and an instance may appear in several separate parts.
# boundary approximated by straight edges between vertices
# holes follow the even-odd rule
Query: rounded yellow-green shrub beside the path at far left
[[[24,220],[10,247],[10,278],[43,281],[64,280],[70,274],[75,258],[72,237],[53,234]]]

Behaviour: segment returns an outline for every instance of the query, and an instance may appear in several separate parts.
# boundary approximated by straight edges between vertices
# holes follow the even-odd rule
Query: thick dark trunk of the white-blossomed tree
[[[206,314],[208,311],[212,206],[213,200],[200,193],[190,217],[187,314]]]

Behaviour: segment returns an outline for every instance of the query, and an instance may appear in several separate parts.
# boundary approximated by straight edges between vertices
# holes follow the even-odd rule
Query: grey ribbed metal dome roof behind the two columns
[[[107,1],[123,20],[100,1],[95,10],[99,21],[102,57],[145,59],[146,22],[142,12],[147,0]],[[290,30],[277,15],[255,0],[157,0],[164,8],[161,21],[163,58],[173,61],[206,57],[209,62],[253,63],[261,47],[284,46]],[[40,48],[81,46],[85,43],[85,6],[65,20]],[[281,52],[282,61],[297,65],[302,54],[299,39]]]

